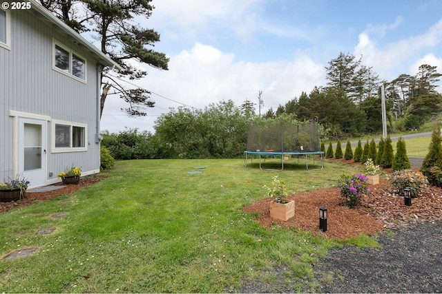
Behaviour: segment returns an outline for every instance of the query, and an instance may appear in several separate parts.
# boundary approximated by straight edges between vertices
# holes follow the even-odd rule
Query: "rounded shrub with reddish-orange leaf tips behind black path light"
[[[387,175],[387,179],[391,180],[391,184],[403,195],[403,189],[410,188],[412,197],[419,196],[421,189],[427,189],[428,180],[421,171],[414,171],[413,169],[402,169],[394,171],[391,175]]]

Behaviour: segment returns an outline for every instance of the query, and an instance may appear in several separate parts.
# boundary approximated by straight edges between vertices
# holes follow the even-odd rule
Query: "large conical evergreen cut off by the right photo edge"
[[[427,176],[428,182],[432,185],[441,185],[439,176],[442,175],[442,138],[441,127],[439,122],[434,127],[431,135],[430,146],[428,153],[423,159],[421,171],[424,176]]]

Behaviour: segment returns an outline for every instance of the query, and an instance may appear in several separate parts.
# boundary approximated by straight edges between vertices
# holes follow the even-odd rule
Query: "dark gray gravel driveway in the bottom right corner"
[[[410,224],[378,242],[381,249],[331,249],[315,268],[321,291],[441,293],[442,222]]]

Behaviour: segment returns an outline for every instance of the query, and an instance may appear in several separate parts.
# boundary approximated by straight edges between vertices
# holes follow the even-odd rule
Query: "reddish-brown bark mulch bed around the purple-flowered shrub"
[[[319,207],[326,207],[328,212],[327,231],[329,238],[346,239],[361,235],[374,235],[385,229],[407,227],[412,222],[435,222],[442,220],[442,189],[429,186],[412,199],[412,206],[405,206],[404,198],[394,193],[390,181],[381,178],[379,185],[369,185],[372,193],[365,196],[355,209],[343,205],[340,190],[336,188],[320,189],[304,193],[295,193],[287,199],[295,200],[295,216],[287,221],[270,217],[271,198],[254,202],[244,211],[258,213],[256,221],[271,228],[297,227],[319,231]]]

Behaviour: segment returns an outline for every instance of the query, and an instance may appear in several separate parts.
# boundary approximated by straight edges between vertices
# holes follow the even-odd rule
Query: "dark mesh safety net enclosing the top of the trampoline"
[[[320,151],[316,122],[288,123],[276,120],[271,125],[249,125],[247,151]]]

